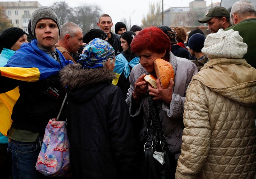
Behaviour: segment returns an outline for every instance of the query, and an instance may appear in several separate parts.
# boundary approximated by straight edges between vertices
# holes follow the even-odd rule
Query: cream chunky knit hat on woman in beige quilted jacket
[[[219,29],[217,33],[207,35],[202,52],[209,58],[243,58],[247,53],[247,44],[238,31]]]

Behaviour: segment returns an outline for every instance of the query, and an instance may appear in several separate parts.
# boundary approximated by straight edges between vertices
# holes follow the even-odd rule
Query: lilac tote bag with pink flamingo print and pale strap
[[[64,106],[67,94],[60,108]],[[36,170],[45,176],[71,176],[67,121],[49,120],[45,128],[41,151],[36,162]]]

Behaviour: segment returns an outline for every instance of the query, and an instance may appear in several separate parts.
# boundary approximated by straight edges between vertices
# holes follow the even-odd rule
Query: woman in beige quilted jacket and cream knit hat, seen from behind
[[[237,31],[220,29],[202,52],[210,60],[187,90],[175,178],[255,178],[256,69],[241,59],[247,45]]]

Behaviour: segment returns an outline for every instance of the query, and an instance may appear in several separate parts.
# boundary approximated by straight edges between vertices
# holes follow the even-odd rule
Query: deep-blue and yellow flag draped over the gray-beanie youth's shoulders
[[[73,63],[65,60],[64,56],[57,49],[60,63],[37,47],[37,41],[23,43],[21,48],[8,60],[4,67],[0,67],[1,77],[8,77],[27,82],[35,82],[57,74],[61,68]],[[60,65],[61,64],[61,65]],[[0,78],[1,78],[0,77]],[[1,80],[0,80],[1,82]],[[4,88],[5,84],[1,84]],[[18,87],[0,96],[0,132],[7,135],[12,120],[12,108],[18,100],[20,94]],[[2,104],[2,105],[1,105]]]

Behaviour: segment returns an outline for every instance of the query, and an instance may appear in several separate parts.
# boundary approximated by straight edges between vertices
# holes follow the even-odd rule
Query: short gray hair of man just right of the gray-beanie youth
[[[66,34],[69,34],[71,36],[71,38],[74,38],[78,29],[82,31],[81,27],[79,27],[78,25],[76,25],[73,22],[66,22],[66,23],[64,23],[60,27],[59,39],[60,40],[64,39]]]

